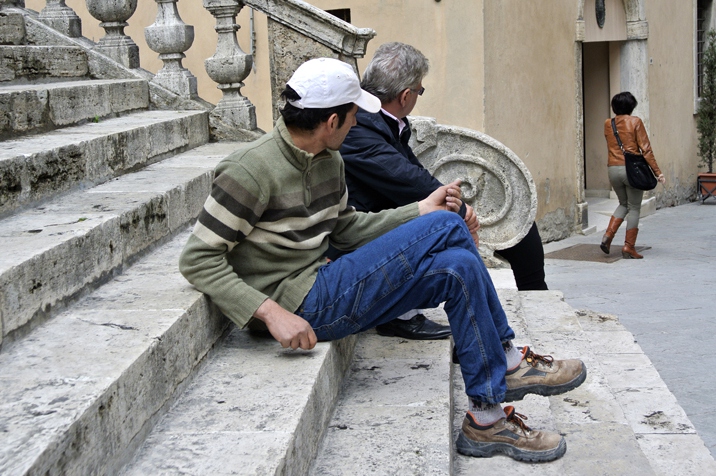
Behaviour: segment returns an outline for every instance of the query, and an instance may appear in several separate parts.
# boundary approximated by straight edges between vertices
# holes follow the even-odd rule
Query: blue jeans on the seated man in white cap
[[[416,218],[321,267],[296,314],[319,340],[333,340],[442,302],[467,395],[502,402],[507,390],[502,343],[515,334],[456,213]]]

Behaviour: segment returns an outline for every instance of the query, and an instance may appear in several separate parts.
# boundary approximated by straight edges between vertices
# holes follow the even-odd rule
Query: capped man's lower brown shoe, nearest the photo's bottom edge
[[[457,451],[468,456],[489,457],[502,453],[517,461],[542,463],[561,458],[567,451],[564,437],[549,431],[538,431],[525,425],[524,415],[514,407],[504,408],[505,418],[480,426],[470,412],[462,422]]]

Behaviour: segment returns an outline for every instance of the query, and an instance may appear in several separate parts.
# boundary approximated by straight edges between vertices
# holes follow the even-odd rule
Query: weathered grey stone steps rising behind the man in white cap
[[[113,473],[227,327],[176,263],[236,144],[32,12],[0,33],[0,474]]]

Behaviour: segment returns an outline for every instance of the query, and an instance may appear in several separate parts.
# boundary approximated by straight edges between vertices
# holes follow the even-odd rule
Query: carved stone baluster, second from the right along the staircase
[[[164,66],[152,80],[186,99],[197,97],[196,78],[182,66],[184,52],[194,42],[194,27],[185,24],[176,3],[178,0],[155,0],[157,19],[144,29],[147,45],[159,53]]]

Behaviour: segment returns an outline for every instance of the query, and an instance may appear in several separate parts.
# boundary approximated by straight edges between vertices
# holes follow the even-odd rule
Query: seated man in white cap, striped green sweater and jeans
[[[274,130],[216,167],[180,258],[184,276],[237,325],[263,323],[292,349],[444,302],[471,402],[458,449],[524,461],[561,457],[564,438],[530,430],[499,404],[571,390],[586,368],[579,360],[525,364],[505,346],[514,332],[455,213],[459,182],[396,209],[356,212],[337,150],[358,107],[377,112],[380,101],[360,88],[350,66],[328,58],[301,65],[283,96]],[[329,242],[357,249],[328,262]]]

